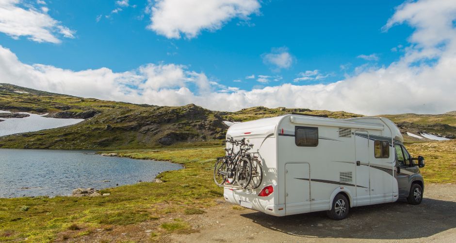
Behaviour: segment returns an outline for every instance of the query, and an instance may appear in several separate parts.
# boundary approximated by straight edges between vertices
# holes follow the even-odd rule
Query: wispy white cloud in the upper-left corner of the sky
[[[44,1],[37,3],[46,4]],[[74,38],[75,31],[50,17],[48,11],[46,7],[22,6],[20,0],[0,0],[0,32],[14,39],[27,36],[36,42],[60,43],[60,35]]]

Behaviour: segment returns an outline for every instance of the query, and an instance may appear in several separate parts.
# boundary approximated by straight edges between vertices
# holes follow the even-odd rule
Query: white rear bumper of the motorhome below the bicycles
[[[253,193],[225,189],[223,197],[227,202],[234,205],[241,205],[241,201],[244,201],[249,203],[253,210],[274,216],[285,216],[285,205],[275,205],[272,195],[260,199]]]

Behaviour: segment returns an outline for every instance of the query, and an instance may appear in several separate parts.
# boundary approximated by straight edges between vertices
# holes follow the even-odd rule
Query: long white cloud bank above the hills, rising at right
[[[105,100],[182,105],[194,103],[213,110],[249,106],[307,107],[344,110],[366,115],[386,113],[443,113],[456,110],[456,2],[407,2],[387,27],[407,22],[415,29],[396,62],[331,84],[258,87],[242,90],[210,80],[204,73],[176,64],[146,64],[126,72],[111,69],[73,71],[49,65],[27,65],[0,47],[0,80],[19,86]],[[440,7],[444,5],[444,7]],[[436,20],[438,18],[438,20]],[[430,38],[435,29],[443,31]],[[428,62],[432,58],[432,62]],[[308,70],[301,77],[316,79]],[[323,75],[324,76],[324,75]],[[273,80],[272,76],[258,78]],[[196,88],[194,88],[196,87]]]

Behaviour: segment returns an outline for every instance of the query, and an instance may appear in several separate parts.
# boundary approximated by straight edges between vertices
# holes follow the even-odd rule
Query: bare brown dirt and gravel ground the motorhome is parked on
[[[406,201],[350,209],[347,219],[334,221],[326,212],[274,217],[250,209],[236,210],[220,200],[199,215],[170,215],[191,223],[186,234],[161,235],[160,242],[453,242],[456,243],[456,185],[426,184],[424,199],[413,206]],[[163,219],[166,220],[166,219]],[[130,229],[100,231],[86,242],[132,240],[147,242],[159,222]],[[127,233],[120,233],[123,230]],[[192,232],[193,233],[190,233]]]

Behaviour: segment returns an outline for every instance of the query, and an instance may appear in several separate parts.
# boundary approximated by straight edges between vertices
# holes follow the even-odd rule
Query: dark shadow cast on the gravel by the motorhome
[[[456,202],[424,198],[350,208],[347,219],[335,221],[326,212],[275,217],[261,212],[241,214],[263,227],[304,238],[415,239],[456,227]]]

